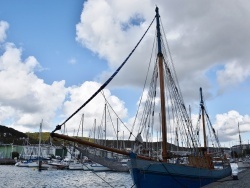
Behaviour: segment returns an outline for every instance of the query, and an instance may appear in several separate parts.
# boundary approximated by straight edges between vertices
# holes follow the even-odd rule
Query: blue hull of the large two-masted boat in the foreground
[[[230,165],[224,169],[204,169],[140,160],[133,157],[128,166],[137,188],[196,188],[230,176],[232,173]]]

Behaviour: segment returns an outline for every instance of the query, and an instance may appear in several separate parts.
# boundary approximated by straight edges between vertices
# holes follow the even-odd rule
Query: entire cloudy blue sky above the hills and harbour
[[[43,131],[54,130],[124,61],[154,18],[155,5],[193,121],[202,87],[222,146],[239,144],[238,123],[247,144],[250,3],[243,0],[1,0],[0,124],[38,132],[43,121]],[[147,35],[153,36],[154,30]],[[150,42],[145,39],[142,46]],[[146,70],[142,63],[150,50],[138,47],[104,89],[128,127],[137,111]],[[103,111],[104,98],[98,95],[66,124],[66,131],[76,135],[84,114],[84,135],[92,134]],[[123,131],[128,137],[126,128],[119,129],[120,136]]]

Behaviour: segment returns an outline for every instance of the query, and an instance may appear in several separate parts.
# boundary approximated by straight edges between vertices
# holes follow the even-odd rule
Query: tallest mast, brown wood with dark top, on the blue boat
[[[155,8],[156,12],[156,29],[158,41],[158,68],[160,79],[160,96],[161,96],[161,123],[162,123],[162,159],[167,161],[167,126],[166,126],[166,109],[165,109],[165,91],[164,91],[164,72],[163,72],[163,54],[161,51],[161,31],[160,31],[160,15],[159,8]]]

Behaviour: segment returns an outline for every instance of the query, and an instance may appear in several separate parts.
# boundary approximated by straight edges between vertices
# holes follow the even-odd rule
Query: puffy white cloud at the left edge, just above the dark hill
[[[44,83],[34,73],[40,66],[35,57],[23,61],[21,49],[10,43],[5,47],[0,56],[0,101],[1,112],[7,113],[1,115],[1,123],[38,130],[41,120],[51,121],[61,107],[67,91],[64,81]]]

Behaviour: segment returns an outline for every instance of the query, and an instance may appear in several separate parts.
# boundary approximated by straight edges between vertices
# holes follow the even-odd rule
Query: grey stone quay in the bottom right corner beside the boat
[[[220,179],[202,188],[247,188],[250,187],[250,169],[243,170],[238,174],[238,180],[231,176]]]

